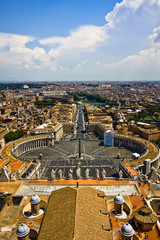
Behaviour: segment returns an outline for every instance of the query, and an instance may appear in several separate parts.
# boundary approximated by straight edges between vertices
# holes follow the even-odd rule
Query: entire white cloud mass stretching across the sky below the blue
[[[68,79],[74,74],[74,79],[76,74],[84,79],[91,79],[89,74],[93,79],[102,74],[101,79],[145,79],[152,70],[153,76],[160,75],[160,26],[155,28],[160,24],[159,8],[160,0],[123,0],[106,15],[104,26],[85,25],[66,37],[39,39],[33,49],[27,47],[35,40],[32,36],[0,33],[1,71],[61,74],[63,79],[65,74]]]

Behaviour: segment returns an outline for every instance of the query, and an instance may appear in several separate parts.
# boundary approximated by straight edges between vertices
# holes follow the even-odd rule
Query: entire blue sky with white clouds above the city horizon
[[[0,81],[160,80],[160,0],[1,0]]]

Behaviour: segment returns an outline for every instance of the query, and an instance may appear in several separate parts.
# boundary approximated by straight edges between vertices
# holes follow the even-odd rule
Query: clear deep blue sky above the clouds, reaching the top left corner
[[[115,0],[2,0],[0,30],[39,38],[66,36],[70,29],[81,25],[105,24],[106,12],[115,3]]]

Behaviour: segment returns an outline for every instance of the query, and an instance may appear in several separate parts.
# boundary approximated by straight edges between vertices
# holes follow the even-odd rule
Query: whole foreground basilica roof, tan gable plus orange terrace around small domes
[[[1,183],[0,192],[7,191],[10,196],[12,194],[15,197],[24,196],[24,198],[20,206],[6,204],[0,212],[0,225],[3,230],[0,236],[3,236],[4,240],[8,240],[10,239],[9,237],[16,232],[15,229],[17,229],[21,223],[30,226],[31,220],[24,218],[22,215],[22,207],[30,201],[31,197],[29,196],[38,194],[40,199],[44,199],[46,202],[48,198],[50,198],[48,209],[41,226],[41,230],[44,229],[45,231],[46,229],[46,236],[52,234],[53,230],[49,228],[54,224],[53,229],[55,230],[56,227],[60,229],[63,238],[59,238],[59,231],[55,231],[57,238],[55,237],[53,239],[73,240],[74,238],[75,240],[81,240],[85,239],[85,236],[87,236],[87,240],[112,239],[110,238],[110,234],[112,234],[112,231],[110,231],[110,222],[112,223],[113,231],[116,229],[120,230],[122,227],[121,219],[116,219],[107,214],[106,206],[111,200],[113,201],[115,195],[121,193],[124,201],[132,209],[132,212],[145,206],[144,199],[148,194],[153,195],[152,188],[149,188],[147,184],[144,185],[141,183],[138,187],[137,182],[133,180],[101,181],[81,179],[78,182],[79,188],[75,188],[77,180],[28,180]],[[70,188],[66,188],[66,186],[70,186]],[[92,188],[89,186],[92,186]],[[57,189],[59,190],[54,191]],[[53,192],[50,195],[51,191]],[[98,194],[102,193],[102,191],[104,194],[100,194],[99,197]],[[48,195],[50,195],[50,197]],[[128,221],[130,223],[132,217],[133,215],[127,219],[123,219],[123,223],[127,223]],[[45,218],[47,220],[45,220]],[[41,222],[42,216],[35,218],[32,227],[39,231]],[[70,226],[68,227],[68,225]],[[70,238],[64,236],[65,231],[66,236],[69,234]],[[153,231],[147,233],[150,237],[148,237],[148,239],[154,237],[154,240],[158,240],[158,234],[156,227]],[[48,236],[48,238],[40,239],[47,240],[52,238]],[[142,239],[145,239],[145,234],[143,234]]]

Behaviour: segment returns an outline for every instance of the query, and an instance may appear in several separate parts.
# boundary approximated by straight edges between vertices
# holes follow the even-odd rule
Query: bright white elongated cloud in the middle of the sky
[[[104,42],[107,37],[103,27],[86,25],[72,31],[67,37],[46,38],[39,43],[53,47],[49,56],[55,58],[73,51],[94,51],[97,45]],[[57,48],[56,45],[58,45]]]

